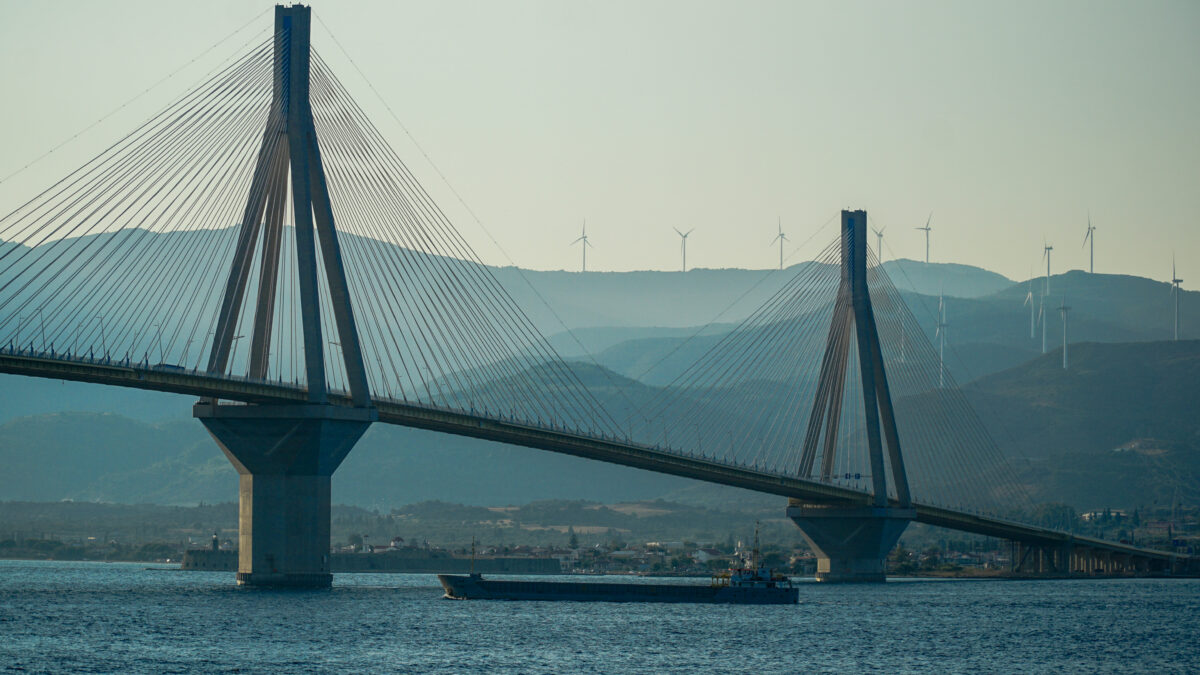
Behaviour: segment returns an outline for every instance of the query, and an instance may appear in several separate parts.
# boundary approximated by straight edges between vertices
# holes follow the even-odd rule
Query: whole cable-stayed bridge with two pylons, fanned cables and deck
[[[310,22],[277,7],[260,44],[0,220],[0,371],[197,396],[240,474],[240,583],[330,583],[330,476],[376,422],[788,497],[830,581],[882,580],[913,520],[1016,542],[1022,569],[1195,565],[1021,524],[864,211],[671,386],[564,362]]]

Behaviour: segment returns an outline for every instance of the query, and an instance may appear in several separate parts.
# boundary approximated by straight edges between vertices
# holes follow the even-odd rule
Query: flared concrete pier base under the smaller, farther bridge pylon
[[[817,554],[817,581],[862,584],[886,580],[888,552],[917,512],[791,502],[787,516]]]

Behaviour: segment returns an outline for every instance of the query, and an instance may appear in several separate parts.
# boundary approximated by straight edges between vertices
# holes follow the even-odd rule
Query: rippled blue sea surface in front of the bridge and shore
[[[0,561],[0,670],[1200,670],[1200,580],[804,584],[796,607],[722,607],[455,602],[428,574],[246,591],[145,567]]]

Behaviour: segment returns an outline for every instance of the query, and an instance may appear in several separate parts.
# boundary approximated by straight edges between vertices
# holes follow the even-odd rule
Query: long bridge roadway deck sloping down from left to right
[[[0,372],[49,380],[92,382],[116,387],[149,389],[212,398],[245,404],[306,402],[304,387],[238,377],[215,377],[203,371],[169,365],[113,362],[44,352],[0,348]],[[331,405],[349,406],[348,395],[330,394]],[[611,464],[644,468],[672,476],[695,478],[708,483],[732,485],[804,502],[870,506],[866,492],[763,472],[751,467],[732,466],[715,460],[676,455],[656,447],[642,446],[625,438],[587,435],[576,431],[533,426],[527,423],[497,419],[438,408],[427,405],[374,399],[379,422],[416,429],[428,429],[458,436],[498,441],[550,450]],[[914,503],[916,520],[937,527],[958,530],[1020,542],[1027,546],[1048,550],[1064,548],[1091,549],[1108,555],[1128,556],[1154,562],[1166,569],[1195,568],[1200,558],[1130,544],[1081,537],[1067,532],[1024,525],[990,515],[960,512],[932,504]]]

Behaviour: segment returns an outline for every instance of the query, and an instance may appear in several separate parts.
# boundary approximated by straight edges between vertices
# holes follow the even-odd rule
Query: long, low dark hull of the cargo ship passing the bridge
[[[689,584],[605,584],[589,581],[509,581],[479,575],[438,574],[451,599],[654,602],[718,604],[796,604],[788,587],[701,586]]]

